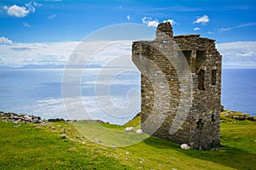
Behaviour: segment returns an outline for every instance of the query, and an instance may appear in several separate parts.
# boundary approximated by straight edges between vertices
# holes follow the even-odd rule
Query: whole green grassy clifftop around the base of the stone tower
[[[104,140],[110,145],[142,138],[135,131],[124,131],[127,126],[136,127],[139,116],[125,126],[0,122],[0,169],[255,169],[256,122],[222,118],[220,150],[181,150],[178,144],[148,136],[126,147],[104,144]],[[77,138],[81,135],[78,130],[87,132],[82,135],[96,139],[97,144]],[[64,132],[67,139],[61,138]]]

